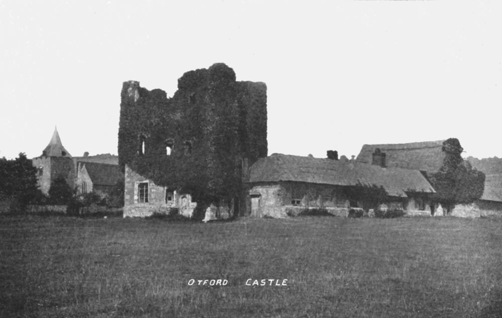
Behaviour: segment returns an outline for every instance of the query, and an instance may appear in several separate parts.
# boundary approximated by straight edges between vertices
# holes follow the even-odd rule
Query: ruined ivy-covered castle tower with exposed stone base
[[[191,214],[210,204],[245,214],[242,174],[267,151],[267,86],[236,81],[225,64],[186,72],[170,98],[137,81],[123,83],[124,216],[172,207]]]

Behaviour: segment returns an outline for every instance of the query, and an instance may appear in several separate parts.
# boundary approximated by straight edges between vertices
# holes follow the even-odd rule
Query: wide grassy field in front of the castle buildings
[[[2,317],[502,315],[502,220],[4,216],[0,243]]]

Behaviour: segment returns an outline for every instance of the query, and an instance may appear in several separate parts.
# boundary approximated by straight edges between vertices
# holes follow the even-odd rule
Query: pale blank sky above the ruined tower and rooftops
[[[269,155],[460,140],[502,157],[500,1],[0,0],[0,157],[117,153],[122,82],[223,62],[268,90]]]

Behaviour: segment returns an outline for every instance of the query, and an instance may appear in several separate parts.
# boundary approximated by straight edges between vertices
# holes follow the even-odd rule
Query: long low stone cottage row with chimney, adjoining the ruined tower
[[[286,217],[316,208],[337,216],[362,208],[430,215],[435,191],[424,175],[417,169],[382,166],[385,154],[379,150],[372,156],[373,164],[277,153],[261,158],[250,167],[247,180],[251,215]],[[371,198],[367,201],[354,191],[361,187],[383,189],[387,202],[371,206]]]

